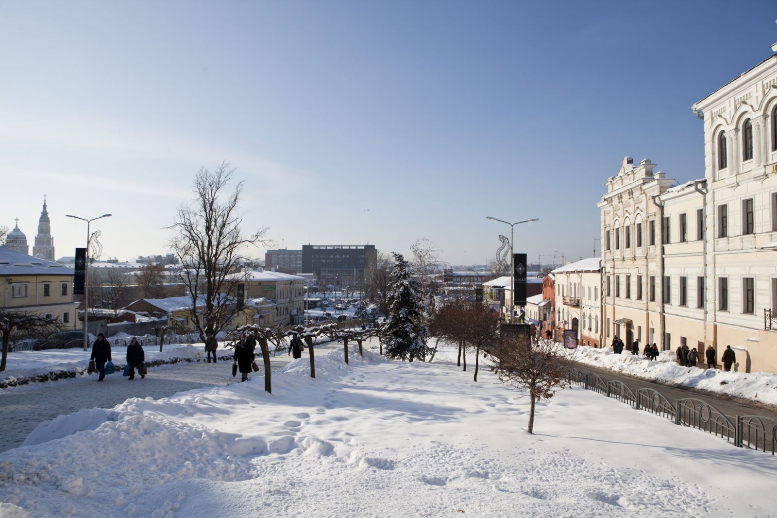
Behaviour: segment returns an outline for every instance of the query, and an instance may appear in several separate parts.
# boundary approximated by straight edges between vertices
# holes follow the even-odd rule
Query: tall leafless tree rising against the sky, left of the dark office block
[[[172,250],[181,261],[180,278],[192,299],[192,320],[200,339],[216,334],[239,312],[234,296],[241,278],[236,274],[245,260],[241,250],[267,243],[267,229],[250,236],[242,233],[238,205],[242,182],[232,193],[225,192],[234,170],[221,163],[213,172],[200,169],[194,178],[196,197],[178,208],[171,226]],[[222,200],[222,198],[225,198]],[[197,309],[204,306],[204,312]]]

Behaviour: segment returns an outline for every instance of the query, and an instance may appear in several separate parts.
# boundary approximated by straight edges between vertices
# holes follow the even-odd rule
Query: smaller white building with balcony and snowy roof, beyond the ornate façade
[[[601,258],[588,257],[552,271],[556,295],[557,338],[577,331],[579,345],[601,343]]]

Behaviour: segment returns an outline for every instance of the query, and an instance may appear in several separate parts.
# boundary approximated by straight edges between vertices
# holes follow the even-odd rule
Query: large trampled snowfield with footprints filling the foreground
[[[777,459],[601,397],[342,349],[129,399],[0,454],[2,516],[775,516]],[[61,436],[57,430],[67,429]],[[53,439],[53,440],[47,440]],[[21,508],[21,509],[19,509]],[[15,514],[16,513],[16,514]]]

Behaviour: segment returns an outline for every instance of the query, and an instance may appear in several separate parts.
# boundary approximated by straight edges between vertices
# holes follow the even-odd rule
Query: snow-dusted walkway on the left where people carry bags
[[[337,345],[319,345],[315,351],[326,351]],[[340,345],[340,347],[342,347]],[[219,352],[231,353],[231,349]],[[320,352],[319,352],[320,351]],[[114,349],[117,361],[122,351]],[[34,352],[30,354],[35,354]],[[89,358],[89,353],[82,353]],[[307,351],[303,359],[308,359]],[[274,370],[287,365],[291,358],[279,352],[271,359]],[[261,355],[257,357],[261,364]],[[80,362],[79,365],[83,363]],[[263,369],[251,376],[263,375]],[[96,383],[96,375],[71,380],[30,383],[21,387],[0,390],[0,451],[21,446],[25,437],[40,424],[61,414],[69,414],[82,408],[113,408],[128,397],[167,397],[176,392],[192,389],[207,389],[235,383],[232,377],[232,360],[207,363],[181,362],[174,365],[157,366],[148,369],[148,376],[141,380],[127,381],[121,373],[106,376],[105,381]],[[2,513],[0,513],[2,516]]]

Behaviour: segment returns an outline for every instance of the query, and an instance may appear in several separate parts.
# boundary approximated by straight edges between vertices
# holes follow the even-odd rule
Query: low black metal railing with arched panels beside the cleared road
[[[768,419],[758,415],[737,415],[729,418],[713,405],[685,397],[672,404],[664,394],[652,388],[632,390],[618,380],[603,380],[594,373],[584,374],[573,369],[568,378],[570,385],[580,385],[607,397],[628,404],[636,410],[669,419],[676,425],[688,426],[726,439],[733,446],[749,450],[771,451],[777,455],[777,424],[767,425]]]

